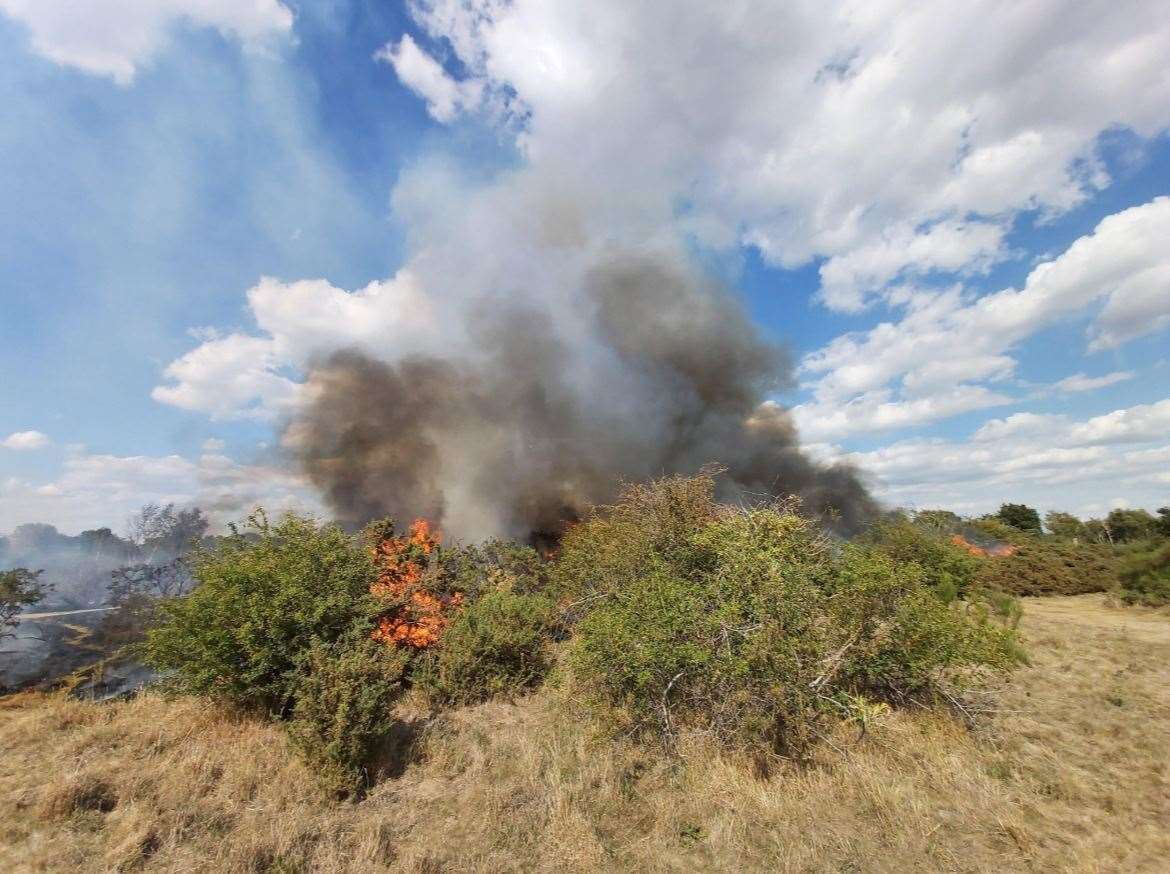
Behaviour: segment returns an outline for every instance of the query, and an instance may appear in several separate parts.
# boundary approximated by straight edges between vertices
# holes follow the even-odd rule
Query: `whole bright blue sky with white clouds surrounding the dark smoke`
[[[1159,6],[0,0],[0,531],[311,508],[308,362],[615,245],[721,274],[890,503],[1170,503]]]

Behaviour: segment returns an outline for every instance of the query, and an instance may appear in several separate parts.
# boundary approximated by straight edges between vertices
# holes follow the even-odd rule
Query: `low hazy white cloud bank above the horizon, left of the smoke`
[[[180,455],[74,453],[60,475],[44,483],[9,479],[0,483],[0,531],[25,522],[48,522],[63,531],[118,529],[144,503],[198,505],[216,527],[238,521],[255,505],[270,512],[323,515],[308,484],[268,464],[240,464],[220,454],[198,460]]]

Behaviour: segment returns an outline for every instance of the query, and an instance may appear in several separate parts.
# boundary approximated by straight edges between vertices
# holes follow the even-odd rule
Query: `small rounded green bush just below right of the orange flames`
[[[418,679],[432,700],[467,704],[537,686],[552,665],[551,603],[488,592],[463,607]]]

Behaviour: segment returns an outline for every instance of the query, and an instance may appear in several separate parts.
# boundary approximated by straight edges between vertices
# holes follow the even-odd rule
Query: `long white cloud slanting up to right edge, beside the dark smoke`
[[[1023,288],[970,297],[959,287],[900,290],[890,300],[904,309],[897,322],[835,338],[807,355],[800,370],[814,399],[798,408],[801,425],[818,439],[840,439],[869,429],[867,417],[849,417],[855,405],[929,411],[925,422],[975,406],[945,402],[965,394],[992,399],[975,384],[1011,377],[1010,352],[1057,321],[1102,305],[1089,329],[1089,350],[1117,345],[1170,323],[1170,198],[1159,197],[1102,219],[1093,233],[1059,256],[1038,264]],[[1087,391],[1128,379],[1113,373],[1071,377],[1060,391]],[[970,385],[964,385],[970,384]],[[931,401],[934,404],[924,402]],[[996,402],[1006,402],[1000,394]],[[890,407],[887,406],[887,410]],[[886,421],[897,417],[887,413]]]

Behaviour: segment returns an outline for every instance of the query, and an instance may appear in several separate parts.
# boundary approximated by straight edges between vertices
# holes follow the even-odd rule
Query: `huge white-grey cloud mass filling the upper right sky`
[[[1099,133],[1170,123],[1157,2],[412,8],[468,71],[455,82],[413,41],[393,49],[433,113],[455,112],[459,87],[512,95],[534,164],[598,197],[638,192],[711,245],[825,256],[825,300],[842,309],[899,276],[985,269],[1013,213],[1055,214],[1108,184]]]

